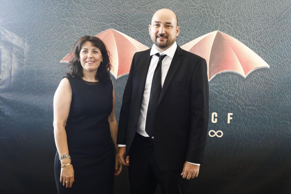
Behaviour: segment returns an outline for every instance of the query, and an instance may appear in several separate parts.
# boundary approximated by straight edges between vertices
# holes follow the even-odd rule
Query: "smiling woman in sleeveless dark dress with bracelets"
[[[73,46],[70,71],[54,95],[55,179],[58,193],[113,192],[122,165],[115,156],[117,124],[110,56],[97,37]]]

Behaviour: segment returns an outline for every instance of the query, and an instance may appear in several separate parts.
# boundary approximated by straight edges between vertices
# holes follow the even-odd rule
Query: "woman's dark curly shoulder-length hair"
[[[112,68],[110,53],[109,51],[107,51],[106,46],[104,45],[102,40],[100,40],[100,38],[97,38],[95,36],[83,36],[79,38],[77,42],[75,42],[71,50],[72,59],[68,65],[69,71],[67,72],[67,75],[78,76],[80,78],[84,76],[83,68],[81,66],[81,62],[79,61],[79,59],[80,59],[80,52],[81,52],[82,46],[87,41],[92,42],[92,45],[94,47],[100,49],[102,57],[103,57],[103,62],[101,62],[100,66],[98,67],[98,71],[97,71],[95,79],[99,79],[102,82],[108,82],[110,80],[109,72]]]

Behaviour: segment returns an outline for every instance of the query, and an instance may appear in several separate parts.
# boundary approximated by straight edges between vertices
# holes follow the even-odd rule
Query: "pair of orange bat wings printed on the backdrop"
[[[137,40],[113,29],[95,36],[104,42],[111,53],[111,74],[115,79],[129,73],[134,53],[148,49]],[[246,78],[257,69],[269,68],[269,65],[246,45],[220,31],[200,36],[181,48],[205,58],[208,81],[223,72],[234,72]],[[61,63],[69,63],[71,58],[69,53]]]

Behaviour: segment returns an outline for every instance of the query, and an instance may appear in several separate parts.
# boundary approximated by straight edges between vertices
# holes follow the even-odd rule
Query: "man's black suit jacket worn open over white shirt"
[[[126,145],[126,155],[136,133],[150,60],[150,49],[134,54],[123,93],[117,143]],[[185,161],[203,163],[208,93],[205,59],[178,46],[155,115],[154,150],[161,170],[180,170]]]

